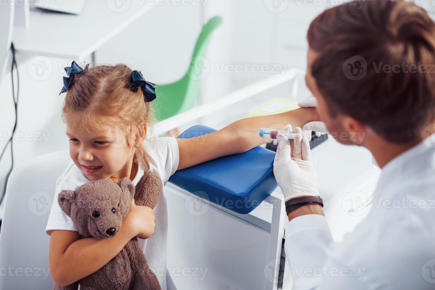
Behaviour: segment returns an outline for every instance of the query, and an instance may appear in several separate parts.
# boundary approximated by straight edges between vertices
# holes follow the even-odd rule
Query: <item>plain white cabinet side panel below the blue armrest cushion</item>
[[[177,289],[265,289],[268,231],[205,204],[169,182],[165,193],[167,274]]]

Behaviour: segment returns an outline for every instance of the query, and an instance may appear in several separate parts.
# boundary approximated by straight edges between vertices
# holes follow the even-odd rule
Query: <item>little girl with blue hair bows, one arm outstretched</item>
[[[118,234],[102,240],[80,239],[71,218],[57,202],[58,193],[64,189],[74,191],[98,179],[117,182],[129,177],[137,185],[147,172],[157,173],[165,185],[177,170],[245,152],[265,142],[242,130],[283,129],[286,124],[302,126],[317,119],[317,115],[314,109],[301,108],[242,119],[208,134],[207,138],[146,138],[154,122],[151,106],[154,84],[124,64],[88,66],[83,69],[73,62],[71,68],[65,68],[69,77],[64,77],[61,91],[67,92],[62,119],[67,125],[72,160],[57,179],[45,229],[50,235],[51,276],[60,286],[77,284],[77,280],[107,264],[131,238],[140,237],[148,264],[164,290],[168,223],[164,192],[154,211],[132,201]]]

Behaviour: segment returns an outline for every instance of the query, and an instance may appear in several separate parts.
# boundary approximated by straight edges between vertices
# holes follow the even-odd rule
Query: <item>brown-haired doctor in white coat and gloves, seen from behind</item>
[[[306,83],[331,135],[368,148],[382,168],[380,205],[335,243],[308,140],[291,152],[280,135],[274,175],[293,289],[435,289],[435,23],[411,2],[358,3],[311,23]]]

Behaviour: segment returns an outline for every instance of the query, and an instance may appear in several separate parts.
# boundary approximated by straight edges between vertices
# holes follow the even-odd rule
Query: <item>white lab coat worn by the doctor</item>
[[[342,243],[322,215],[285,221],[293,290],[435,289],[435,134],[385,165],[372,204]]]

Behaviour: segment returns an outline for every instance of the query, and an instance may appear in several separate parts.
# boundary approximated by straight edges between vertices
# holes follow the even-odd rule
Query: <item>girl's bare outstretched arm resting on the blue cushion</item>
[[[238,120],[225,128],[194,138],[177,138],[180,160],[177,170],[187,168],[199,163],[248,151],[268,140],[254,132],[263,128],[284,129],[288,124],[301,127],[308,122],[317,121],[315,108],[299,108],[281,114],[251,117]]]

